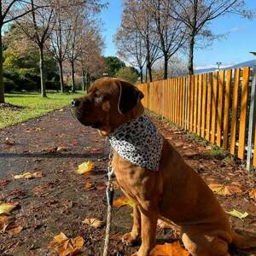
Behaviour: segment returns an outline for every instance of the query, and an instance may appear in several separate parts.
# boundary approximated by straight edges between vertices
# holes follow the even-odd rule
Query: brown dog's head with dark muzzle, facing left
[[[103,136],[143,113],[143,93],[122,79],[103,78],[91,84],[86,96],[72,101],[73,115]]]

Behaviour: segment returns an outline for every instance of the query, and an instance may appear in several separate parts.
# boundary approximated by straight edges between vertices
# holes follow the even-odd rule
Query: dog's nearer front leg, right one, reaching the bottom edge
[[[137,253],[132,254],[132,256],[148,256],[155,245],[158,212],[152,207],[148,210],[142,208],[140,210],[142,218],[142,245]]]

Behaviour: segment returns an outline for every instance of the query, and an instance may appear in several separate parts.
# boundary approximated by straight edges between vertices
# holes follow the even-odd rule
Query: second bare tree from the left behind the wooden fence
[[[146,49],[146,63],[149,80],[152,81],[152,67],[160,59],[159,37],[154,33],[154,20],[142,0],[125,0],[122,26],[126,31],[139,32]]]

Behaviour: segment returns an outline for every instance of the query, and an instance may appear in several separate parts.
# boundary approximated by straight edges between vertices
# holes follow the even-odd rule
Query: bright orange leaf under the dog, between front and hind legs
[[[153,249],[152,256],[189,256],[189,252],[178,241],[175,241],[157,245]]]

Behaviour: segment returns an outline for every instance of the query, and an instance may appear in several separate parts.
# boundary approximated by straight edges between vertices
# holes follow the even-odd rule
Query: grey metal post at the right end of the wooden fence
[[[256,67],[253,67],[253,79],[251,89],[250,100],[250,113],[249,113],[249,128],[248,128],[248,143],[247,143],[247,171],[252,171],[253,160],[253,139],[256,119]],[[254,154],[256,154],[256,148],[254,148]]]

